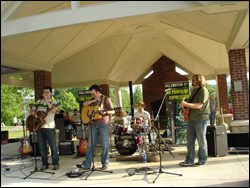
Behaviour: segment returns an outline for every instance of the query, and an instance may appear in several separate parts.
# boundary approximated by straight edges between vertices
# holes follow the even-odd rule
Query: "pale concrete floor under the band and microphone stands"
[[[128,175],[131,168],[150,168],[158,172],[159,162],[142,163],[140,161],[117,161],[110,158],[108,170],[113,173],[94,171],[87,180],[88,173],[77,178],[68,178],[65,173],[75,168],[83,158],[74,159],[74,155],[60,156],[60,169],[54,175],[36,172],[31,177],[23,178],[34,170],[34,158],[19,159],[16,152],[20,143],[1,145],[1,186],[2,187],[249,187],[249,155],[230,154],[224,157],[209,157],[208,163],[200,167],[180,167],[179,162],[185,158],[185,147],[173,147],[171,156],[168,151],[162,154],[162,170],[179,173],[182,176],[161,173],[137,173]],[[117,153],[118,154],[118,153]],[[100,157],[96,157],[96,167],[100,167]],[[41,162],[38,160],[40,168]],[[6,171],[8,170],[9,171]],[[53,171],[50,167],[47,171]]]

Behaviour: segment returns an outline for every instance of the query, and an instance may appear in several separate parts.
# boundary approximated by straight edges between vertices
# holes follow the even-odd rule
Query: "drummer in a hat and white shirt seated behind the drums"
[[[151,116],[148,111],[144,110],[146,105],[143,101],[133,105],[133,107],[136,109],[136,112],[134,114],[134,122],[136,123],[136,119],[142,119],[142,126],[147,129],[148,133],[148,140],[149,140],[149,148],[152,145],[153,141],[153,132],[151,130],[152,124],[151,124]],[[133,127],[132,127],[133,128]]]

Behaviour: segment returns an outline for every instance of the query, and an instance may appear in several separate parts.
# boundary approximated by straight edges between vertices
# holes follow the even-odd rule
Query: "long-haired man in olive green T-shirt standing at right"
[[[187,126],[187,154],[186,160],[179,163],[180,166],[199,166],[207,162],[207,140],[206,130],[209,119],[209,93],[205,88],[205,78],[203,75],[192,76],[192,90],[189,102],[182,101],[180,106],[189,108],[189,118]],[[198,162],[194,163],[195,140],[199,145]]]

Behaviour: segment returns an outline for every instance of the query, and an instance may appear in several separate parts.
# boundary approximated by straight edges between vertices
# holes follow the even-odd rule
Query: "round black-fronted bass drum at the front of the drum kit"
[[[121,155],[132,155],[137,150],[137,140],[136,138],[129,134],[125,133],[120,135],[115,142],[116,149]]]

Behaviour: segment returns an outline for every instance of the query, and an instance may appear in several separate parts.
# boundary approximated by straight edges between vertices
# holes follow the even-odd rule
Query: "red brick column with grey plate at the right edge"
[[[234,119],[249,119],[249,96],[245,49],[230,50],[228,55]]]

